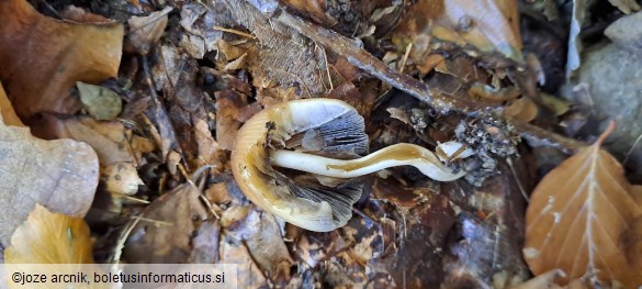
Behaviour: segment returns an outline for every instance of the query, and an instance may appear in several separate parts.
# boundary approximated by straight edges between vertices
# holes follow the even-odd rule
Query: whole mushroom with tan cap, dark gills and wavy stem
[[[358,179],[337,187],[301,185],[288,171],[352,179],[384,168],[414,166],[440,181],[465,175],[453,174],[432,152],[413,144],[395,144],[359,157],[368,153],[368,142],[363,118],[348,103],[323,98],[293,100],[264,109],[244,124],[232,152],[232,171],[256,205],[316,232],[333,231],[350,220],[362,185]],[[291,149],[294,146],[297,151]]]

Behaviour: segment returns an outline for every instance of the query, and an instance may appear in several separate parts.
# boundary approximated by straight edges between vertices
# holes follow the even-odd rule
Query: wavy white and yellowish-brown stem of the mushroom
[[[384,168],[414,166],[436,180],[455,180],[465,173],[450,173],[430,151],[413,144],[396,144],[357,159],[335,159],[302,152],[275,149],[270,153],[272,166],[313,173],[326,177],[356,178]]]

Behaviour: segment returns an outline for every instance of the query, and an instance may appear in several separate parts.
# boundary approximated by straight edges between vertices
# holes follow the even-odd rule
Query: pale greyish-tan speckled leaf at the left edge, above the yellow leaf
[[[72,216],[87,213],[98,186],[98,157],[89,145],[38,140],[29,129],[3,124],[0,140],[2,245],[36,203]]]

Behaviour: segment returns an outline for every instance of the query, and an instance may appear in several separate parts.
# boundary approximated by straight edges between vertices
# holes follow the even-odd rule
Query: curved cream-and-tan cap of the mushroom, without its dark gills
[[[255,114],[238,131],[232,152],[232,171],[241,191],[267,212],[306,230],[329,232],[345,225],[351,218],[351,212],[333,212],[333,208],[325,200],[317,199],[317,202],[294,196],[292,187],[283,184],[283,175],[269,163],[269,153],[272,149],[270,141],[284,143],[293,134],[319,127],[345,115],[352,115],[352,122],[356,122],[354,118],[360,120],[359,125],[352,126],[360,126],[357,130],[363,131],[363,118],[354,108],[334,99],[294,100]],[[361,138],[365,138],[367,145],[368,136],[363,132],[362,134]],[[351,202],[351,205],[359,196],[346,197],[349,199],[346,201]]]

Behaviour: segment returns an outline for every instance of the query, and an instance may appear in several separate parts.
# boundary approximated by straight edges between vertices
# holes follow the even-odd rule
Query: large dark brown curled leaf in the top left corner
[[[76,81],[97,84],[117,74],[123,25],[80,24],[40,14],[25,0],[0,2],[0,78],[15,112],[74,113]]]

